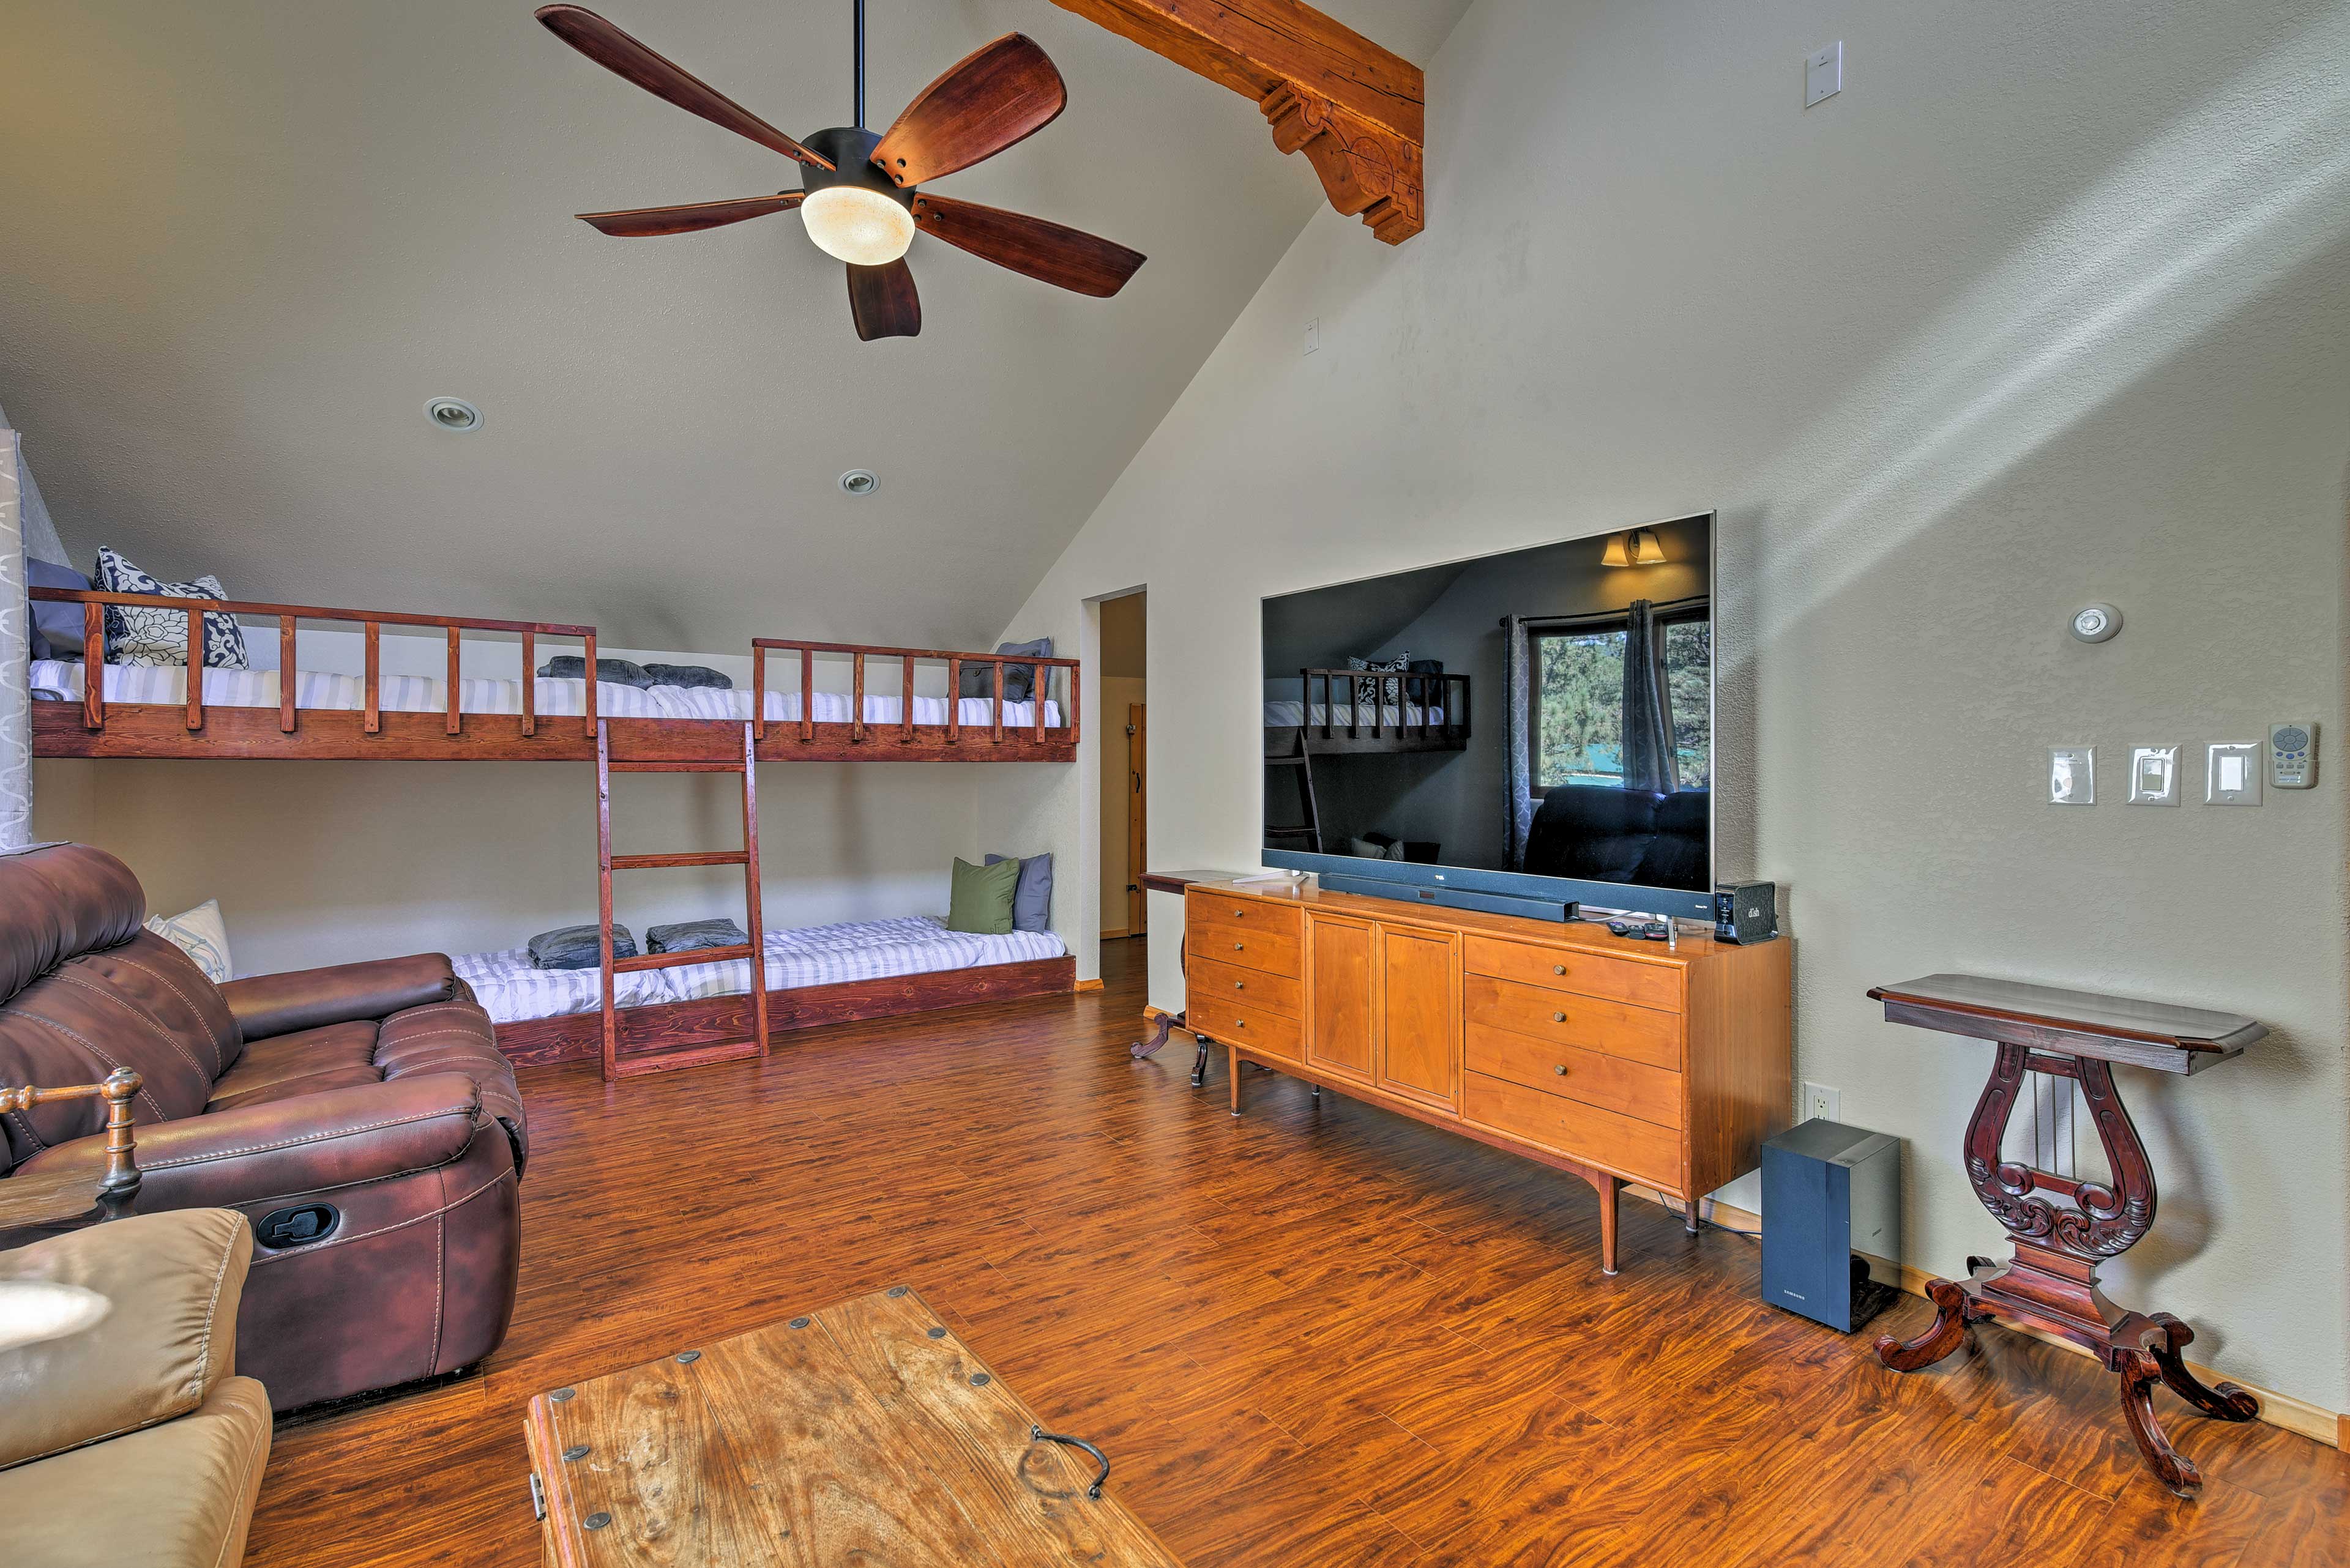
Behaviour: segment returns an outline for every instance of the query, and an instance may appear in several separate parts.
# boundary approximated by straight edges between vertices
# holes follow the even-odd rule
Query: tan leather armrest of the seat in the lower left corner
[[[148,1213],[0,1253],[0,1291],[45,1281],[106,1302],[75,1333],[0,1354],[0,1469],[153,1427],[237,1371],[254,1232],[221,1208]]]

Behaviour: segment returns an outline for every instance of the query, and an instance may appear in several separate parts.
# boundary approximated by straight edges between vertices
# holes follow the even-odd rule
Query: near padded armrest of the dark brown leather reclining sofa
[[[463,1072],[421,1072],[162,1121],[139,1128],[139,1206],[237,1208],[435,1171],[461,1157],[484,1124],[482,1091]],[[106,1168],[103,1138],[42,1150],[16,1173],[82,1168],[92,1180]]]

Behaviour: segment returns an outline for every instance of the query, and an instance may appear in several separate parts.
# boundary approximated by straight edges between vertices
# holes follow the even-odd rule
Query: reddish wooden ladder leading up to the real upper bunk
[[[611,853],[611,776],[613,773],[738,773],[743,778],[743,849],[717,849],[682,856],[616,856]],[[597,907],[604,922],[604,1081],[639,1077],[644,1072],[667,1072],[672,1067],[700,1067],[703,1063],[733,1063],[745,1056],[766,1056],[766,926],[759,914],[759,752],[752,726],[743,726],[740,762],[613,762],[611,726],[595,726],[595,853],[597,853]],[[639,952],[632,959],[611,957],[611,875],[646,872],[672,865],[740,865],[743,910],[750,922],[750,945],[696,947],[691,952]],[[686,964],[750,961],[750,1039],[696,1041],[667,1051],[642,1051],[620,1056],[620,1009],[618,978],[642,969],[682,969]]]

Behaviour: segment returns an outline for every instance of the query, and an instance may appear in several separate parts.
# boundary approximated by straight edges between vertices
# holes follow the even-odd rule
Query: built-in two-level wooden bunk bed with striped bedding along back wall
[[[971,1001],[1069,992],[1076,961],[1050,931],[975,936],[931,917],[768,931],[759,905],[750,762],[1074,762],[1072,658],[759,637],[750,689],[602,679],[592,625],[35,588],[82,607],[82,658],[33,661],[35,757],[592,762],[599,795],[602,961],[536,969],[522,947],[454,954],[517,1063],[602,1058],[606,1077],[764,1053],[773,1034]],[[108,663],[106,609],[188,623],[186,663]],[[275,670],[204,668],[207,616],[277,621]],[[303,623],[357,625],[360,672],[303,670]],[[383,670],[383,628],[442,632],[439,677]],[[242,628],[240,628],[242,632]],[[348,632],[343,632],[348,637]],[[468,637],[470,635],[470,637]],[[512,639],[515,679],[465,675],[484,639]],[[538,672],[538,644],[580,646],[580,675]],[[820,691],[815,661],[846,658],[851,689]],[[916,691],[945,665],[945,696]],[[548,670],[559,670],[550,661]],[[101,672],[92,682],[87,675]],[[200,679],[190,682],[190,670]],[[599,679],[585,679],[597,670]],[[284,675],[291,672],[291,679]],[[1062,672],[1060,696],[1053,675]],[[773,679],[780,675],[783,679]],[[1018,698],[1018,686],[1027,698]],[[1010,686],[1010,693],[1008,693]],[[978,689],[978,696],[966,696]],[[613,856],[609,773],[731,771],[745,849]],[[750,945],[616,957],[611,877],[656,865],[743,865]]]

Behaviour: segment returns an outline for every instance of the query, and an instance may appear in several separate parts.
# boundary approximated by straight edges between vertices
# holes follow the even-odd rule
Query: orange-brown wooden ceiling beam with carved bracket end
[[[1297,0],[1053,0],[1255,99],[1274,146],[1304,153],[1330,205],[1379,240],[1426,226],[1419,66]]]

